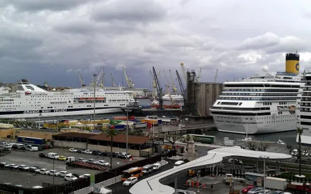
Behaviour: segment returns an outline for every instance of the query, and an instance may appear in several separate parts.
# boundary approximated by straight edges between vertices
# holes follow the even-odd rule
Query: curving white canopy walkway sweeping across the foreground
[[[244,150],[239,146],[230,148],[218,148],[208,151],[208,155],[200,157],[194,161],[180,165],[176,168],[166,170],[158,175],[142,179],[130,189],[132,194],[174,194],[175,189],[171,186],[161,184],[162,180],[174,177],[179,173],[183,173],[190,169],[201,169],[205,167],[215,166],[226,158],[244,158],[258,160],[285,161],[291,159],[291,155],[279,154],[274,152],[259,152],[253,150]]]

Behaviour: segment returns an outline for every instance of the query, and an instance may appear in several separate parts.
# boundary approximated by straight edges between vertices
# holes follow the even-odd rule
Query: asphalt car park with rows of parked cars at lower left
[[[24,152],[18,150],[11,150],[10,154],[0,157],[0,162],[6,162],[7,164],[24,164],[28,167],[31,166],[40,166],[41,168],[47,168],[48,170],[54,169],[57,171],[67,170],[69,173],[79,173],[79,174],[92,174],[98,173],[98,170],[91,170],[87,168],[74,168],[67,166],[65,161],[53,160],[49,158],[39,157],[39,153],[49,153],[56,152],[58,155],[63,155],[65,157],[75,157],[75,158],[84,158],[84,159],[95,159],[95,160],[105,160],[110,163],[110,157],[101,157],[95,155],[87,155],[83,153],[69,152],[68,149],[59,149],[53,148],[49,150],[42,150],[39,152]],[[140,158],[138,158],[140,159]],[[134,158],[133,161],[136,159]],[[125,159],[112,159],[112,166],[124,165],[126,164]],[[133,162],[130,161],[130,162]],[[119,164],[117,164],[119,162]],[[42,182],[53,184],[53,176],[49,175],[35,175],[34,173],[27,173],[18,170],[6,170],[0,168],[0,182],[10,183],[10,184],[21,184],[23,186],[42,186]],[[28,184],[27,184],[28,182]],[[63,177],[55,177],[55,184],[62,184],[65,182]]]

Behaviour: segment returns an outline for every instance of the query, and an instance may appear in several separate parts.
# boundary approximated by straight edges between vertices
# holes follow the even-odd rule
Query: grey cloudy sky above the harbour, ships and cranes
[[[294,3],[295,2],[295,3]],[[122,67],[136,87],[150,70],[203,68],[201,81],[251,76],[264,65],[285,69],[285,53],[310,68],[311,1],[269,0],[1,0],[0,82],[78,87]],[[173,74],[174,79],[176,74]],[[167,75],[169,77],[169,75]],[[161,76],[164,85],[165,77]]]

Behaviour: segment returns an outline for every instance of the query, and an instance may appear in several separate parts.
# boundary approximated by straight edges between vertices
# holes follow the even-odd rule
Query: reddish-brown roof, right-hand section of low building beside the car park
[[[96,139],[96,140],[102,140],[102,141],[110,141],[110,136],[107,136],[106,133],[96,134],[94,136],[89,137],[89,139]],[[152,137],[148,136],[128,136],[128,143],[131,144],[143,144],[146,143],[146,141],[151,140]],[[126,143],[126,135],[125,134],[118,134],[117,136],[113,136],[113,141],[118,143]]]

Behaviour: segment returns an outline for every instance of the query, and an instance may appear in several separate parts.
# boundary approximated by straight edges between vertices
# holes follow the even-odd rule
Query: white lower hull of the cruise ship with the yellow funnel
[[[237,123],[215,122],[219,132],[230,132],[237,134],[267,134],[276,132],[288,132],[296,129],[295,122],[285,121],[282,125],[243,125]],[[311,136],[310,136],[311,140]]]

